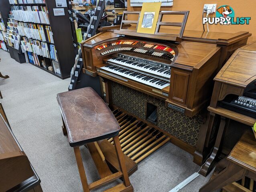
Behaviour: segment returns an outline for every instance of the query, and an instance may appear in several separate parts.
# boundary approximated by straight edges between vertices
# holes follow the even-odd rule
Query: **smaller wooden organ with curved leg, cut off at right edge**
[[[205,138],[206,145],[214,142],[213,135],[217,138],[211,156],[200,170],[204,176],[213,168],[213,162],[220,153],[228,122],[234,120],[250,127],[256,122],[256,42],[238,48],[214,81],[207,131],[201,131],[201,136]],[[219,116],[219,128],[214,129],[214,119]]]

